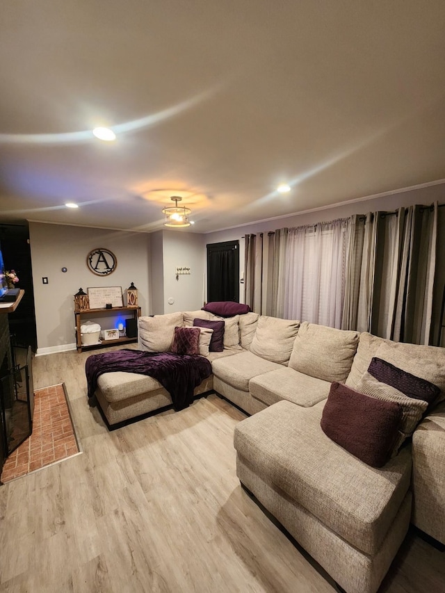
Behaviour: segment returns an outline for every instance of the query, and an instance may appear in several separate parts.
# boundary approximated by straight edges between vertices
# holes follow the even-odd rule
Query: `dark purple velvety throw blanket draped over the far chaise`
[[[193,390],[211,375],[211,364],[202,356],[117,350],[89,356],[85,371],[91,404],[94,402],[99,375],[124,371],[154,377],[170,393],[173,407],[178,411],[193,402]]]

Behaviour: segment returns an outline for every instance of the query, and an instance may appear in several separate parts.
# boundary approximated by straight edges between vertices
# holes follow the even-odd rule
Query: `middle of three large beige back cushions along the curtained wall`
[[[345,382],[358,342],[357,332],[305,321],[293,344],[289,366],[317,379]]]

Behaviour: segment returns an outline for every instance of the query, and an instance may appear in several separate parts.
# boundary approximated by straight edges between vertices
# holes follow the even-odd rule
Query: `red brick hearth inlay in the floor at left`
[[[63,384],[34,392],[33,432],[7,458],[1,481],[9,482],[79,453]]]

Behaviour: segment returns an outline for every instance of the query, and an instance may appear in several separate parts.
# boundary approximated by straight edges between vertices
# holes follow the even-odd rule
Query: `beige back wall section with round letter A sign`
[[[151,313],[149,234],[30,222],[29,236],[38,354],[74,346],[73,297],[80,287],[122,286],[124,291],[134,282],[142,313]],[[107,277],[86,266],[86,256],[95,247],[110,249],[118,259]],[[49,284],[42,284],[42,277],[48,277]],[[109,317],[102,327],[105,323],[111,323]]]

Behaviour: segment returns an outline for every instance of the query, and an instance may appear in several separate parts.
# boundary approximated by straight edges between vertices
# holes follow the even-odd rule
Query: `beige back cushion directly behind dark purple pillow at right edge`
[[[435,403],[445,399],[445,348],[386,341],[375,356],[437,385],[441,393]]]

